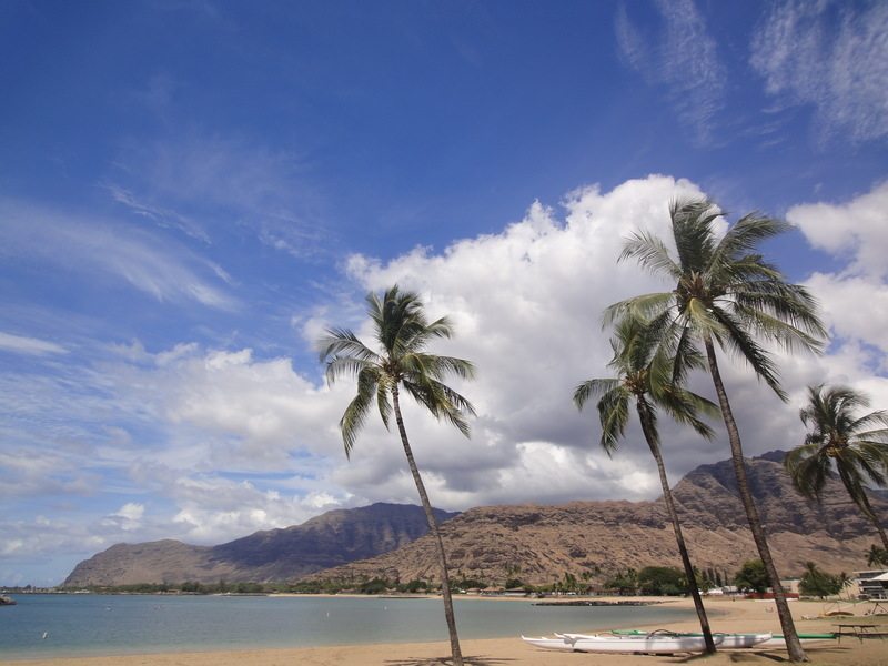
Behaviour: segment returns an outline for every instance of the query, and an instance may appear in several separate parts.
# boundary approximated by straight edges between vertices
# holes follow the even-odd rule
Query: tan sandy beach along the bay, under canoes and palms
[[[491,603],[512,603],[497,602]],[[693,608],[690,599],[664,601],[677,607]],[[709,624],[714,632],[779,633],[779,620],[771,603],[753,601],[706,601]],[[837,630],[840,623],[878,625],[888,632],[888,616],[818,617],[825,605],[816,602],[790,604],[799,633]],[[458,618],[457,618],[458,622]],[[633,628],[633,627],[613,627]],[[666,626],[646,627],[674,630],[699,630],[696,620]],[[576,628],[582,630],[582,628]],[[707,666],[766,666],[788,663],[786,650],[722,650],[712,657],[680,654],[663,655],[599,655],[546,650],[514,638],[461,642],[466,665],[471,666],[654,666],[657,664],[689,664],[704,662]],[[888,664],[888,642],[880,638],[860,640],[845,637],[805,646],[810,663],[816,666],[884,666]],[[446,643],[405,643],[393,645],[359,645],[302,649],[230,650],[212,653],[176,653],[70,659],[2,660],[0,665],[17,666],[438,666],[451,664]]]

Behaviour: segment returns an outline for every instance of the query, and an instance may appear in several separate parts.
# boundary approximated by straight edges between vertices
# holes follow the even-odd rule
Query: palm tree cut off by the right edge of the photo
[[[864,483],[888,485],[888,412],[854,415],[856,410],[868,406],[867,396],[848,386],[808,386],[808,404],[799,416],[811,432],[804,444],[786,455],[784,465],[796,490],[818,502],[836,470],[848,495],[876,526],[882,547],[888,551],[888,536],[872,511]]]

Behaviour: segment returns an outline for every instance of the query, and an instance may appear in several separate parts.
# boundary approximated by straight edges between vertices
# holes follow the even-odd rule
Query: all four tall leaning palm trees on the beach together
[[[587,402],[597,398],[601,446],[608,455],[616,452],[632,406],[635,406],[643,435],[657,465],[669,521],[709,654],[715,653],[716,646],[672,500],[660,451],[657,412],[665,412],[710,440],[716,433],[702,417],[720,418],[728,435],[746,518],[773,589],[789,659],[807,662],[749,488],[740,432],[719,371],[717,350],[745,362],[760,381],[786,401],[776,363],[765,345],[776,343],[790,353],[819,353],[826,344],[827,331],[817,314],[814,296],[804,286],[788,282],[759,252],[765,241],[791,229],[789,224],[750,213],[719,238],[715,224],[724,218],[724,212],[708,199],[673,201],[669,218],[674,251],[663,239],[640,231],[626,241],[622,255],[615,259],[637,260],[643,268],[669,284],[672,291],[635,296],[606,309],[603,325],[614,331],[614,355],[609,366],[617,376],[581,383],[574,391],[573,401],[582,410]],[[443,418],[468,436],[467,418],[474,415],[474,407],[444,382],[452,376],[470,380],[475,369],[470,361],[427,351],[430,343],[451,337],[454,331],[447,317],[428,321],[416,292],[394,285],[382,295],[367,294],[366,303],[375,349],[365,345],[347,329],[331,327],[317,342],[320,359],[326,364],[330,383],[342,377],[356,380],[356,395],[340,421],[346,455],[351,456],[357,434],[374,407],[386,427],[394,415],[437,552],[453,664],[462,666],[464,660],[454,619],[446,553],[413,456],[402,416],[401,396],[403,391],[436,418]],[[694,371],[709,373],[716,402],[686,389],[686,380]],[[847,386],[824,384],[810,389],[809,405],[800,416],[813,432],[803,445],[787,455],[785,464],[796,488],[810,498],[819,498],[826,480],[836,468],[851,500],[870,518],[880,536],[882,545],[872,546],[870,563],[886,565],[888,541],[869,505],[866,485],[886,485],[888,414],[878,411],[856,416],[855,411],[865,406],[866,396]]]

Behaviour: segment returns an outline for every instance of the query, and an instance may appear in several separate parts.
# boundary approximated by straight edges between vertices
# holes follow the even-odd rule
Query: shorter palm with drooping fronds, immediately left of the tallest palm
[[[715,643],[713,642],[713,633],[709,629],[709,619],[706,616],[706,608],[703,606],[699,587],[697,586],[697,576],[694,566],[690,564],[690,556],[687,552],[685,537],[682,534],[682,524],[673,500],[669,480],[666,476],[666,465],[663,463],[663,455],[660,455],[656,407],[662,407],[679,423],[689,424],[707,438],[713,438],[715,433],[708,425],[699,421],[696,414],[698,411],[708,414],[717,413],[718,407],[674,383],[667,383],[672,381],[672,377],[664,372],[668,369],[667,366],[652,367],[652,357],[656,349],[654,342],[640,321],[626,317],[617,322],[615,337],[610,341],[614,359],[610,361],[609,366],[616,371],[619,379],[583,382],[574,392],[574,404],[577,410],[582,411],[589,398],[598,397],[597,410],[602,423],[601,445],[607,452],[607,455],[612,456],[617,448],[617,442],[625,434],[626,424],[629,420],[630,404],[633,400],[635,401],[635,408],[642,423],[642,432],[657,463],[659,483],[663,487],[663,500],[669,514],[669,521],[673,524],[690,596],[694,598],[694,607],[697,610],[700,630],[706,643],[706,653],[714,654]],[[703,364],[703,360],[699,357],[694,362],[697,365]],[[687,365],[687,367],[689,366],[690,364]]]

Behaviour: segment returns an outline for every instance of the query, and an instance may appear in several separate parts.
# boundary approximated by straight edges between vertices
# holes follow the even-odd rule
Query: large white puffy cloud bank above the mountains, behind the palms
[[[627,234],[645,229],[668,236],[668,202],[698,194],[693,183],[662,175],[610,191],[589,185],[568,193],[558,208],[535,202],[502,232],[463,239],[442,252],[417,248],[391,261],[354,256],[349,263],[354,297],[337,293],[316,310],[294,313],[292,321],[306,345],[326,325],[350,326],[372,344],[362,297],[393,283],[421,292],[430,316],[452,317],[456,337],[438,341],[432,351],[477,367],[475,381],[452,382],[477,408],[472,437],[417,405],[404,405],[417,463],[432,502],[442,508],[653,498],[659,483],[637,426],[629,427],[612,460],[598,444],[594,406],[577,413],[571,397],[579,382],[610,374],[603,310],[672,287],[634,261],[617,261]],[[723,357],[747,455],[804,440],[798,407],[808,384],[851,383],[870,394],[874,405],[888,404],[885,326],[866,326],[888,312],[874,305],[885,293],[884,271],[858,265],[869,261],[865,255],[886,228],[878,216],[888,210],[885,195],[878,186],[841,206],[790,211],[790,221],[845,266],[808,281],[836,340],[824,357],[777,356],[789,404],[748,369]],[[830,220],[842,220],[841,230]],[[101,392],[63,395],[58,387],[65,413],[77,413],[80,401],[89,413],[114,415],[101,436],[82,435],[95,443],[53,456],[48,442],[18,463],[10,453],[13,476],[24,485],[17,486],[13,476],[0,478],[0,490],[13,495],[22,487],[41,492],[46,484],[58,492],[67,485],[89,492],[97,477],[93,486],[120,495],[122,508],[95,518],[105,529],[101,539],[90,542],[89,526],[71,523],[59,526],[67,535],[59,543],[77,544],[79,552],[121,538],[223,543],[329,508],[417,501],[397,434],[386,431],[377,414],[371,414],[346,460],[337,423],[354,385],[324,385],[320,365],[296,369],[285,356],[191,342],[158,352],[134,342],[111,352],[93,377]],[[712,396],[707,375],[695,376],[693,387]],[[660,430],[673,483],[728,455],[724,434],[706,442],[666,417]],[[17,552],[46,547],[52,534],[41,529],[29,536],[21,525],[4,526]]]

